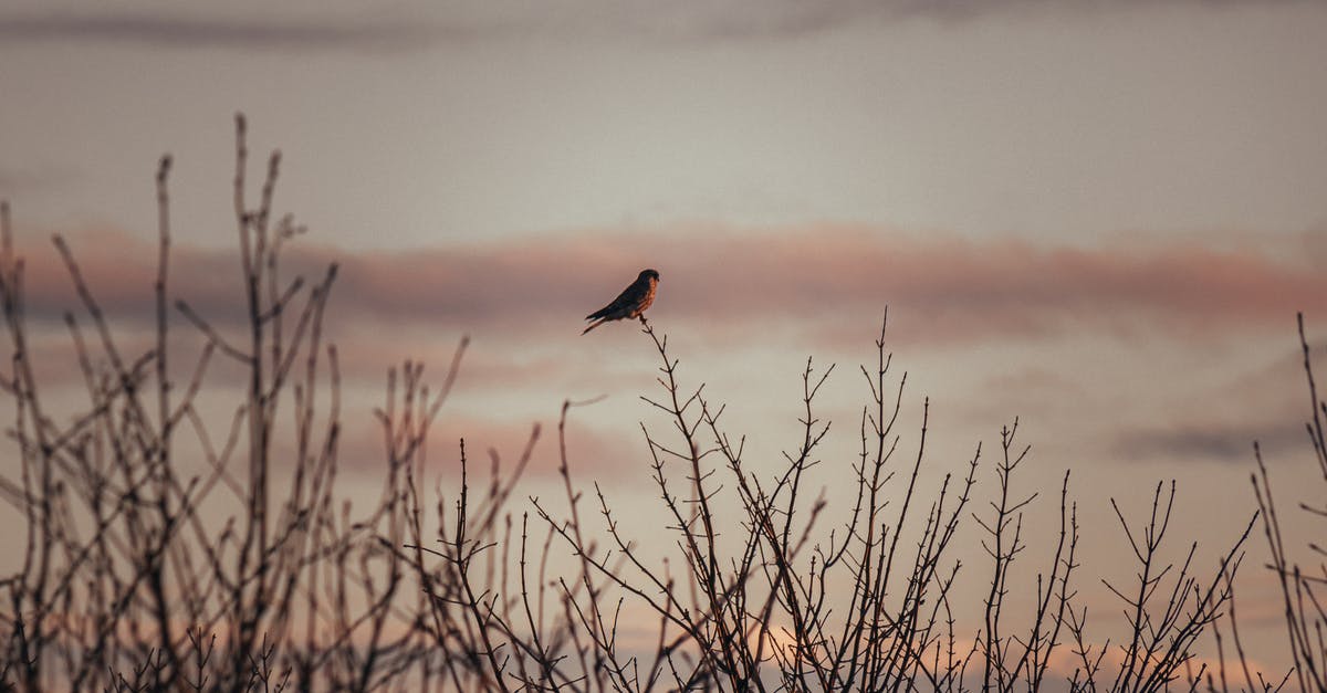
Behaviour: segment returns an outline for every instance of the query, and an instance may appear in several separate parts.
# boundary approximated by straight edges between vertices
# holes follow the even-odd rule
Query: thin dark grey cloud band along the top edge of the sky
[[[445,44],[524,38],[711,42],[795,40],[845,27],[908,20],[966,21],[1013,12],[1104,13],[1132,8],[1311,4],[1307,0],[571,0],[527,4],[443,1],[391,19],[194,16],[149,12],[0,15],[7,42],[100,41],[154,48],[285,52],[410,52]]]

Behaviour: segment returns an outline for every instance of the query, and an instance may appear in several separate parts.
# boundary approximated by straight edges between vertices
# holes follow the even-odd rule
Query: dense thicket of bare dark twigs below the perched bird
[[[11,360],[0,389],[15,418],[0,495],[27,532],[17,570],[0,581],[5,686],[1132,692],[1213,681],[1194,643],[1227,604],[1243,538],[1231,538],[1217,566],[1194,566],[1193,548],[1174,563],[1162,548],[1173,483],[1156,487],[1148,516],[1116,508],[1137,560],[1136,581],[1109,585],[1128,636],[1093,640],[1078,593],[1096,580],[1079,571],[1068,475],[1058,512],[1043,508],[1059,530],[1044,547],[1023,534],[1036,491],[1015,474],[1027,454],[1016,421],[1001,431],[993,462],[978,446],[961,474],[929,487],[925,416],[920,430],[898,430],[906,378],[892,374],[884,331],[876,362],[861,370],[860,451],[833,462],[851,469],[844,475],[821,474],[829,462],[819,457],[829,425],[816,397],[831,369],[807,361],[794,447],[778,463],[756,463],[725,429],[723,408],[703,386],[683,385],[667,339],[645,325],[642,345],[657,352],[661,377],[645,397],[657,418],[642,426],[642,455],[667,518],[648,550],[620,528],[608,491],[592,485],[587,494],[573,478],[564,426],[567,510],[512,499],[537,429],[512,469],[495,466],[484,483],[466,474],[429,497],[429,429],[464,344],[435,389],[418,364],[393,372],[377,412],[381,501],[352,516],[337,490],[337,352],[322,339],[336,267],[308,284],[281,276],[281,250],[300,228],[272,212],[276,155],[256,203],[247,198],[243,118],[238,126],[245,320],[222,325],[174,300],[163,159],[155,345],[146,353],[122,350],[74,254],[56,239],[81,301],[66,323],[86,401],[68,424],[45,409],[24,266],[4,220]],[[186,323],[173,327],[173,316]],[[200,344],[183,386],[167,362],[182,329]],[[224,421],[199,405],[215,368],[243,373]],[[1314,422],[1327,469],[1316,412]],[[468,470],[463,445],[459,454]],[[982,474],[998,493],[978,501]],[[829,512],[821,489],[844,482],[855,504]],[[1263,507],[1274,520],[1270,495]],[[985,563],[958,560],[961,532],[981,536]],[[569,564],[556,558],[568,554]],[[1299,676],[1322,686],[1314,578],[1277,556],[1295,597],[1287,609],[1299,624]],[[1022,584],[1011,581],[1020,560],[1040,566]],[[973,572],[983,589],[955,588]],[[1032,608],[1019,612],[1013,592],[1032,595]],[[979,623],[957,615],[967,611]],[[648,640],[628,637],[642,631]]]

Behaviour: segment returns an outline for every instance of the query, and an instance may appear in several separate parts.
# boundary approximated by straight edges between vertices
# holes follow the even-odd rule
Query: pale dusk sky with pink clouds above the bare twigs
[[[1024,483],[1070,470],[1084,563],[1108,574],[1108,498],[1141,510],[1162,479],[1176,546],[1222,551],[1254,510],[1253,439],[1287,499],[1320,491],[1295,312],[1327,343],[1323,65],[1327,7],[1294,0],[17,0],[0,198],[35,320],[73,305],[60,232],[133,340],[170,153],[176,289],[224,319],[243,112],[309,228],[288,266],[341,266],[329,329],[366,487],[386,368],[441,376],[468,335],[439,445],[511,457],[564,400],[604,396],[572,412],[581,478],[652,503],[657,358],[629,324],[579,335],[645,267],[685,381],[764,469],[798,442],[808,356],[837,364],[824,469],[847,469],[888,307],[936,478],[1019,417]],[[531,493],[555,453],[536,447]],[[1263,551],[1242,612],[1277,661]]]

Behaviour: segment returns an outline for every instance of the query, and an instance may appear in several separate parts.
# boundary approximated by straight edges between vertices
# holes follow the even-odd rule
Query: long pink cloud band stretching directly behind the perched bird
[[[92,234],[72,246],[110,313],[151,315],[151,243]],[[1084,248],[844,226],[759,234],[687,227],[354,254],[297,244],[285,256],[288,276],[309,279],[332,262],[341,266],[333,315],[350,313],[356,329],[445,327],[522,339],[575,328],[642,267],[662,273],[657,320],[718,332],[779,324],[833,339],[852,319],[853,341],[859,319],[873,323],[885,305],[913,323],[902,339],[920,341],[1084,329],[1185,339],[1279,331],[1298,309],[1327,309],[1327,279],[1292,250],[1214,250],[1192,238]],[[199,313],[231,321],[240,315],[236,264],[230,252],[176,243],[173,281]],[[36,315],[76,305],[53,252],[33,252],[28,277]]]

